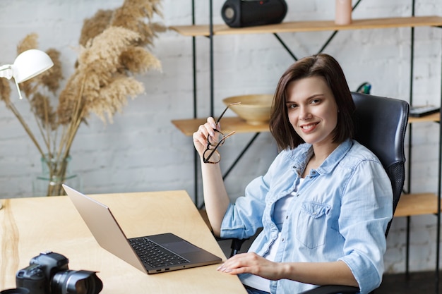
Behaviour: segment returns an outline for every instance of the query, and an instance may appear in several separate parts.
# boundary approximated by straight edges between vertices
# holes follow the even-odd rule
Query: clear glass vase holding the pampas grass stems
[[[34,196],[66,195],[62,184],[76,190],[82,190],[82,182],[78,175],[71,172],[71,156],[57,160],[54,157],[42,157],[42,173],[32,183]]]

